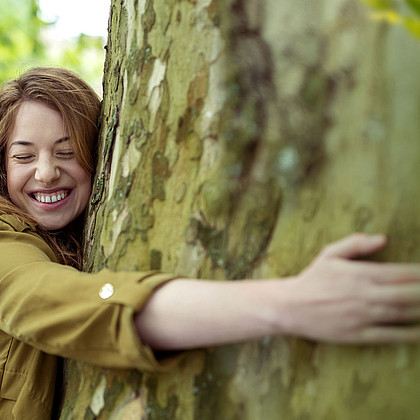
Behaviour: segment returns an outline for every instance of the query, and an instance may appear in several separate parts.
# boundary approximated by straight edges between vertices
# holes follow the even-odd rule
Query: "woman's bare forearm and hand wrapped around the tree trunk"
[[[136,314],[137,331],[160,350],[277,334],[349,344],[418,341],[420,265],[352,260],[385,245],[383,235],[351,235],[285,279],[173,280]]]

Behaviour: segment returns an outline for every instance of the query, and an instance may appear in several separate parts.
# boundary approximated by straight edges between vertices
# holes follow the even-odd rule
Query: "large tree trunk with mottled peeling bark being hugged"
[[[418,68],[357,0],[114,0],[87,269],[285,276],[353,231],[419,261]],[[168,374],[70,362],[61,418],[414,419],[418,355],[279,337]]]

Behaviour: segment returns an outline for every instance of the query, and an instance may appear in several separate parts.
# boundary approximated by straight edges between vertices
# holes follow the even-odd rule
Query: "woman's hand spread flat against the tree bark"
[[[420,264],[354,260],[385,245],[383,235],[350,235],[286,280],[285,332],[348,344],[420,341]]]

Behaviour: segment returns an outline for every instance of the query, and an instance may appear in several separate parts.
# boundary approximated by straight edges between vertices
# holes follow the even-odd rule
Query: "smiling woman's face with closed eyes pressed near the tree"
[[[48,230],[68,225],[88,203],[90,176],[76,159],[61,114],[41,102],[20,106],[6,172],[12,202]]]

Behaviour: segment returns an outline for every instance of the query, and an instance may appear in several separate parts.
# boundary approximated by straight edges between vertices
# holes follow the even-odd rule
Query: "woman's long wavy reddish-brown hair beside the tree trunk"
[[[100,99],[96,92],[75,73],[59,67],[35,67],[0,89],[0,214],[14,215],[23,223],[36,223],[15,206],[7,191],[6,149],[19,107],[38,101],[58,111],[72,141],[81,166],[93,174],[96,160]],[[50,232],[37,226],[62,264],[81,267],[82,217],[60,231]]]

